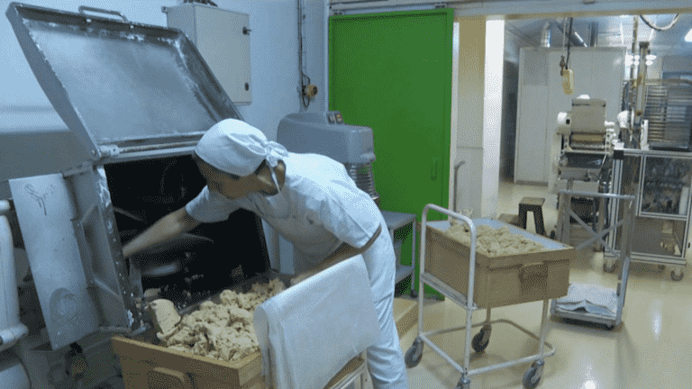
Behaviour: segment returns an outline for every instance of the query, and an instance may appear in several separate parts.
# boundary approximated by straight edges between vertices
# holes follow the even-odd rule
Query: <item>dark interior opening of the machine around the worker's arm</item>
[[[105,165],[105,173],[123,245],[184,207],[205,185],[189,156]],[[187,238],[130,258],[140,261],[143,290],[160,288],[160,297],[179,308],[269,270],[264,232],[254,213],[238,210],[227,221],[200,225]]]

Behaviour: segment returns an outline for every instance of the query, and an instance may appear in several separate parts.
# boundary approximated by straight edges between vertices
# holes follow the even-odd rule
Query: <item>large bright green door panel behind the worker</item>
[[[372,128],[380,207],[419,221],[426,204],[449,205],[453,16],[438,9],[329,21],[329,108]],[[406,247],[402,258],[410,258]]]

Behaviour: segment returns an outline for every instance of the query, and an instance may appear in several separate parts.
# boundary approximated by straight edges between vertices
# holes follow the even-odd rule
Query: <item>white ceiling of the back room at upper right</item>
[[[652,23],[658,26],[668,25],[673,14],[649,15]],[[564,19],[522,19],[506,22],[508,31],[517,35],[524,46],[538,46],[541,44],[542,28],[546,21],[553,20],[563,24]],[[588,26],[590,23],[598,23],[597,46],[632,47],[633,40],[633,16],[602,16],[575,18],[573,29],[578,31],[584,41],[589,41]],[[678,23],[670,30],[658,32],[651,29],[639,19],[638,41],[651,41],[651,53],[659,57],[673,55],[692,55],[692,42],[685,41],[685,35],[692,28],[692,14],[680,14]],[[551,31],[551,46],[562,45],[560,30],[553,28]]]

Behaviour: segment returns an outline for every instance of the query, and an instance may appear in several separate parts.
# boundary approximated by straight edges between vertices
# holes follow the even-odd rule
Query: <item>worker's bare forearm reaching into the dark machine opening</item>
[[[194,230],[200,224],[187,214],[185,207],[176,212],[168,213],[147,231],[128,242],[123,247],[123,257],[131,257],[144,249],[150,249],[161,242],[176,238],[178,235]]]

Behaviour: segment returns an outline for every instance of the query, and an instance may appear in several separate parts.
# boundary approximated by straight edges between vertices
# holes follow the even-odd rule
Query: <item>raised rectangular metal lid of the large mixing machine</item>
[[[183,32],[79,11],[12,3],[6,15],[50,103],[92,160],[199,140],[214,123],[241,119]]]

